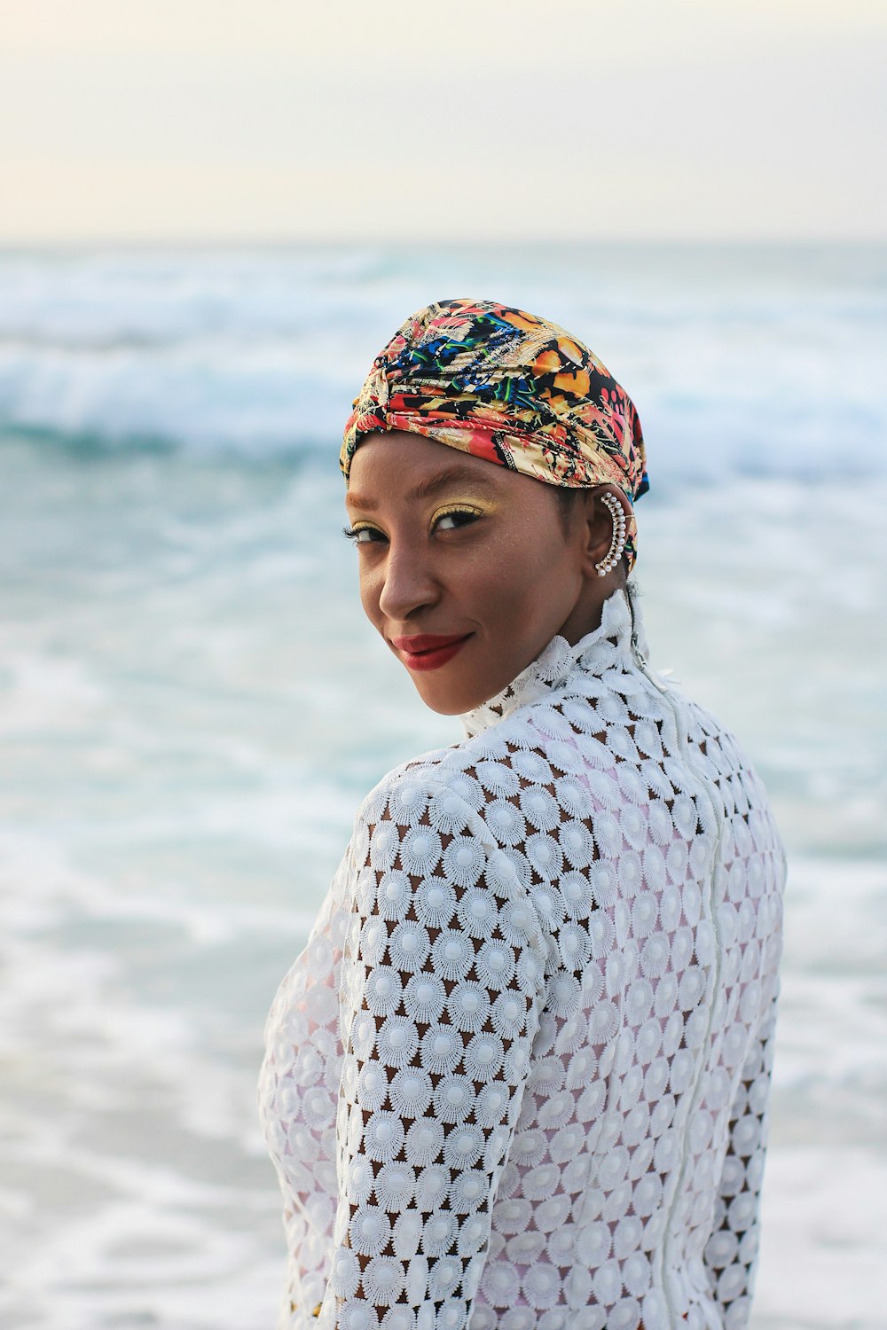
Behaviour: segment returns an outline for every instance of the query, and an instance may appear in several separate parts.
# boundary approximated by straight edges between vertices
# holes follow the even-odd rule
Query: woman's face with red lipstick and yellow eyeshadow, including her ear
[[[544,481],[392,431],[358,447],[346,505],[367,617],[435,712],[471,710],[555,633],[577,641],[600,622],[612,588],[589,575],[609,529],[589,539],[578,520],[565,533]]]

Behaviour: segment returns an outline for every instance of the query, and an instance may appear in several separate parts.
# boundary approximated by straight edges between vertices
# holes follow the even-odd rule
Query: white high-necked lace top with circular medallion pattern
[[[281,1327],[749,1319],[785,855],[637,595],[391,771],[267,1023]]]

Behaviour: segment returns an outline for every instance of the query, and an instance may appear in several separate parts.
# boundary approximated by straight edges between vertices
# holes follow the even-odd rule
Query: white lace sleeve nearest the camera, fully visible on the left
[[[364,805],[340,992],[339,1201],[322,1323],[461,1330],[517,1121],[545,942],[444,781]]]

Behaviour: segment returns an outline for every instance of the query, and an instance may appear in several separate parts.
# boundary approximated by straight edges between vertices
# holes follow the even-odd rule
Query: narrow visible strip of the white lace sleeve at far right
[[[714,1228],[705,1249],[705,1265],[725,1330],[745,1330],[751,1314],[777,1004],[778,995],[774,995],[742,1068],[730,1115]]]

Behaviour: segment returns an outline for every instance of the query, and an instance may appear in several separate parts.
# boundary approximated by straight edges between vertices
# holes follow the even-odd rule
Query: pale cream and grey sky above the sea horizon
[[[887,238],[884,0],[0,0],[0,243]]]

